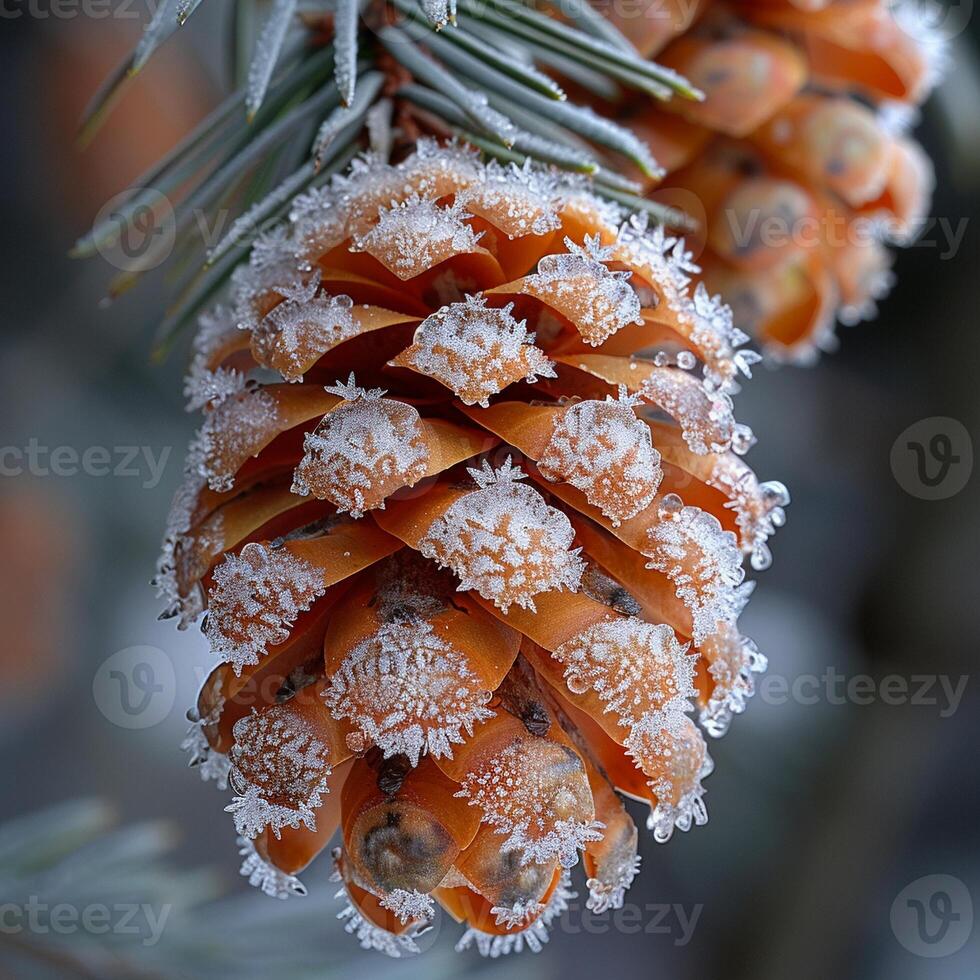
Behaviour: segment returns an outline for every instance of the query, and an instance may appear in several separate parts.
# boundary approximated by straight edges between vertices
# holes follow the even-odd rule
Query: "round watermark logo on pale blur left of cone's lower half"
[[[177,676],[159,647],[118,650],[95,673],[92,696],[99,711],[120,728],[152,728],[173,710]]]

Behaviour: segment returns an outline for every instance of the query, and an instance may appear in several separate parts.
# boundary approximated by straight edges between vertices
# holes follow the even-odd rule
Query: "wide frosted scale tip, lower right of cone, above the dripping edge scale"
[[[554,653],[574,694],[590,688],[621,725],[694,694],[694,658],[666,625],[622,617],[595,623]]]

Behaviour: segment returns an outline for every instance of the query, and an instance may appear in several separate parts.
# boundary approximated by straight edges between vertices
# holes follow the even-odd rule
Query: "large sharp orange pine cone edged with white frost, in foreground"
[[[689,712],[720,735],[752,693],[742,560],[788,499],[741,459],[753,355],[695,272],[584,183],[428,142],[256,244],[202,321],[158,580],[206,612],[187,744],[253,884],[302,894],[339,829],[366,948],[438,903],[461,948],[536,950],[580,853],[622,904],[623,796],[657,840],[704,823]]]

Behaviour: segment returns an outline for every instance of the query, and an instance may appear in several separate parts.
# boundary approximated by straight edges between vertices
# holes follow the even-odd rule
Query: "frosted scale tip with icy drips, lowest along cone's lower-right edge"
[[[653,712],[633,726],[626,749],[657,797],[647,818],[657,843],[670,840],[675,827],[687,831],[708,822],[701,780],[714,767],[690,718],[672,708]]]

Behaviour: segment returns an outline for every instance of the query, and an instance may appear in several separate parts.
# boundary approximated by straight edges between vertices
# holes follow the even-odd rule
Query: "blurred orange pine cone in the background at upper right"
[[[888,244],[908,244],[933,171],[908,135],[938,80],[928,11],[886,0],[656,3],[609,17],[700,103],[632,98],[618,114],[668,171],[655,197],[703,222],[692,245],[735,323],[779,359],[812,360],[834,321],[876,312]]]

